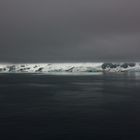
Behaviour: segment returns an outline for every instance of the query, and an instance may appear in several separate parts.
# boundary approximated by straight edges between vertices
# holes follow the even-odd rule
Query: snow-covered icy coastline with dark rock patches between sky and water
[[[119,63],[1,63],[0,73],[140,72],[139,62]]]

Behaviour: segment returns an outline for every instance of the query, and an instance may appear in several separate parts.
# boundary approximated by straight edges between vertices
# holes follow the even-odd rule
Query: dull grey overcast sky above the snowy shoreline
[[[1,62],[138,61],[139,0],[1,0]]]

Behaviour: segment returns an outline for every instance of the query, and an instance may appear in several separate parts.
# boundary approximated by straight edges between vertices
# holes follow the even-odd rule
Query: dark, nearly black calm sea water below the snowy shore
[[[0,75],[0,139],[140,139],[140,75]]]

